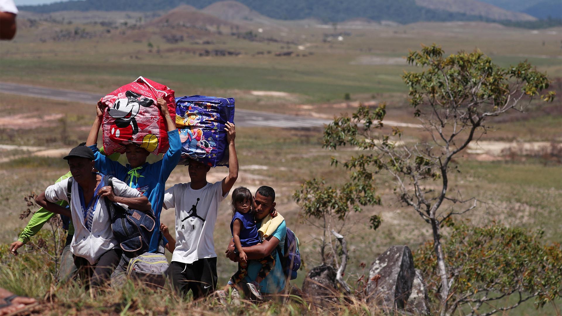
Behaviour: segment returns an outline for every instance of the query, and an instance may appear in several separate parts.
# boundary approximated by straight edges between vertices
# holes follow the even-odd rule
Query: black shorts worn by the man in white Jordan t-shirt
[[[216,288],[216,257],[199,259],[193,263],[172,261],[168,277],[179,295],[185,296],[191,290],[193,299],[207,296]]]

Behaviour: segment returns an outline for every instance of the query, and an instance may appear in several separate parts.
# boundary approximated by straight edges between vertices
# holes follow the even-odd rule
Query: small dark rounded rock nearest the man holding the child
[[[303,297],[321,306],[336,303],[338,296],[336,270],[329,265],[313,268],[302,283]]]

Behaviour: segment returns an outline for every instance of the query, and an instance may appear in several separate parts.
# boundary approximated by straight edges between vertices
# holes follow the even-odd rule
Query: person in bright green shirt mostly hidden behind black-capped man
[[[81,143],[80,145],[85,145],[85,143]],[[102,154],[105,154],[105,152],[103,152],[103,148],[100,150],[100,152]],[[113,154],[108,157],[111,160],[115,161],[119,159],[120,154]],[[55,181],[55,183],[61,182],[62,180],[70,177],[72,177],[72,174],[70,173],[70,171],[68,171],[65,175],[58,178]],[[68,205],[66,201],[60,201],[57,202],[57,204],[62,207],[66,207]],[[43,225],[47,223],[47,221],[55,215],[57,214],[51,213],[48,210],[44,209],[43,207],[37,210],[33,214],[33,216],[31,216],[31,219],[29,220],[28,224],[25,226],[24,230],[20,233],[20,236],[17,238],[17,241],[11,243],[10,253],[12,255],[17,256],[17,249],[28,243],[29,239],[35,236],[35,234],[37,234],[40,231],[40,229],[43,228]],[[76,273],[74,258],[72,258],[72,252],[70,251],[70,243],[72,242],[73,236],[74,236],[74,225],[72,225],[72,220],[69,220],[65,247],[62,250],[61,265],[58,270],[59,272],[58,282],[65,283],[66,281],[69,281],[69,279],[72,276],[74,276],[74,274]]]

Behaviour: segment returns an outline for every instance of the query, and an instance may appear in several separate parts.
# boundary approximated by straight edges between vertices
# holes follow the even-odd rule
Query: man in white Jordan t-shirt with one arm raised
[[[166,190],[164,208],[175,207],[175,250],[168,277],[180,295],[193,292],[193,299],[215,291],[216,253],[213,233],[219,204],[238,178],[238,158],[234,148],[234,124],[226,123],[229,151],[228,175],[215,183],[207,182],[208,165],[189,161],[189,183],[178,183]]]

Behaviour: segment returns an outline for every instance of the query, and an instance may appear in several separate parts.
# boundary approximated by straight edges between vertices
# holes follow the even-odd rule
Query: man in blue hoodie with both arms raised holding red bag
[[[149,243],[148,252],[163,254],[163,245],[165,245],[166,242],[160,242],[162,240],[160,234],[160,213],[162,211],[162,202],[164,201],[166,180],[175,166],[178,165],[180,159],[182,142],[180,142],[179,139],[178,129],[176,129],[175,122],[171,119],[166,101],[162,98],[158,98],[156,106],[166,120],[170,147],[160,161],[150,164],[146,162],[150,152],[134,144],[126,145],[125,156],[129,164],[123,166],[119,162],[112,161],[102,155],[97,148],[99,127],[101,127],[102,124],[104,106],[101,100],[98,101],[96,106],[96,119],[94,120],[92,129],[90,129],[86,146],[92,148],[94,152],[96,157],[96,169],[103,174],[113,175],[115,178],[128,184],[128,186],[136,188],[142,195],[148,197],[148,201],[150,201],[152,210],[156,215],[156,225]],[[126,258],[126,256],[123,255],[121,263],[116,269],[116,273],[124,272],[121,271],[121,269],[127,268],[129,259],[130,258]],[[117,280],[117,282],[121,283],[121,280]]]

